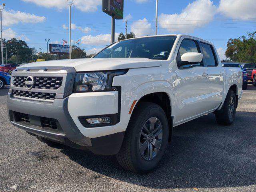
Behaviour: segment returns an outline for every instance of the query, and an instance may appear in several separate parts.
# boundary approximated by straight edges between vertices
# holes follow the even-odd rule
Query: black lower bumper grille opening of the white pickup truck
[[[45,130],[52,130],[54,132],[63,132],[58,120],[56,119],[33,116],[20,112],[13,112],[13,115],[16,122],[26,125],[34,125]]]

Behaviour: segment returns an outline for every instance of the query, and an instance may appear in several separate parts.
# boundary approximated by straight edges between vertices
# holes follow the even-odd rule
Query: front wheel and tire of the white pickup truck
[[[126,135],[116,155],[118,163],[132,172],[149,172],[162,158],[168,145],[168,120],[157,104],[137,104]]]

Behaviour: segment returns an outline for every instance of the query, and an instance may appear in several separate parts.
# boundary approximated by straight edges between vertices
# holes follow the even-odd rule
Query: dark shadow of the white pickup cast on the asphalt
[[[175,127],[172,144],[149,174],[123,170],[114,156],[66,147],[61,152],[84,168],[149,188],[248,186],[256,184],[255,116],[255,112],[237,112],[232,126],[219,126],[208,114]]]

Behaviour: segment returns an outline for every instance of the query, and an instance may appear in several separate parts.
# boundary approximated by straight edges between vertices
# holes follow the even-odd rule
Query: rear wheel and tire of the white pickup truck
[[[233,90],[228,92],[228,95],[223,104],[222,112],[215,114],[216,121],[221,125],[231,125],[236,116],[236,95]]]

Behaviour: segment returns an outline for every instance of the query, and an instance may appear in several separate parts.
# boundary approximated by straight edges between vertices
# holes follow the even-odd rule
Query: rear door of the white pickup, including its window
[[[204,62],[208,70],[208,104],[210,109],[217,108],[223,97],[223,69],[214,47],[211,44],[200,42]]]

